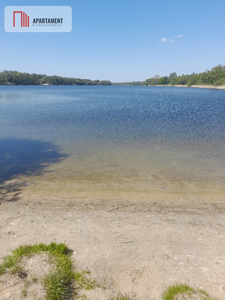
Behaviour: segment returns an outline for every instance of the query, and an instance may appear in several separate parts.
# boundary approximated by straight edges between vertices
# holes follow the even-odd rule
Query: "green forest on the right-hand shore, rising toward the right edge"
[[[192,73],[191,75],[177,76],[177,73],[170,73],[169,77],[160,77],[158,74],[145,81],[133,81],[123,83],[112,83],[112,85],[198,85],[198,84],[212,84],[212,85],[225,85],[225,66],[218,65],[210,71],[206,70],[202,73]]]

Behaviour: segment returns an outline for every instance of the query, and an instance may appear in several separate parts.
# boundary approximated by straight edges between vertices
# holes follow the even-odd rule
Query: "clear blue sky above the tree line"
[[[73,29],[5,32],[8,5],[69,5]],[[113,82],[202,72],[225,64],[224,13],[224,0],[1,0],[0,70]]]

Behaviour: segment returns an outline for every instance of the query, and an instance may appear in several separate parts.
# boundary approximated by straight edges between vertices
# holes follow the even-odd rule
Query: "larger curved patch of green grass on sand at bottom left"
[[[74,272],[71,252],[68,247],[61,243],[43,243],[37,245],[19,246],[12,250],[12,255],[8,255],[3,259],[0,265],[0,275],[6,269],[12,273],[24,273],[20,267],[22,257],[31,257],[34,254],[48,253],[49,261],[54,263],[55,268],[45,275],[42,279],[42,284],[46,289],[46,300],[65,300],[74,294],[73,283],[76,282],[80,288],[85,290],[99,287],[95,280],[87,278],[90,271]],[[32,282],[36,281],[33,277]],[[24,290],[25,291],[25,290]],[[25,293],[22,291],[22,294]]]

